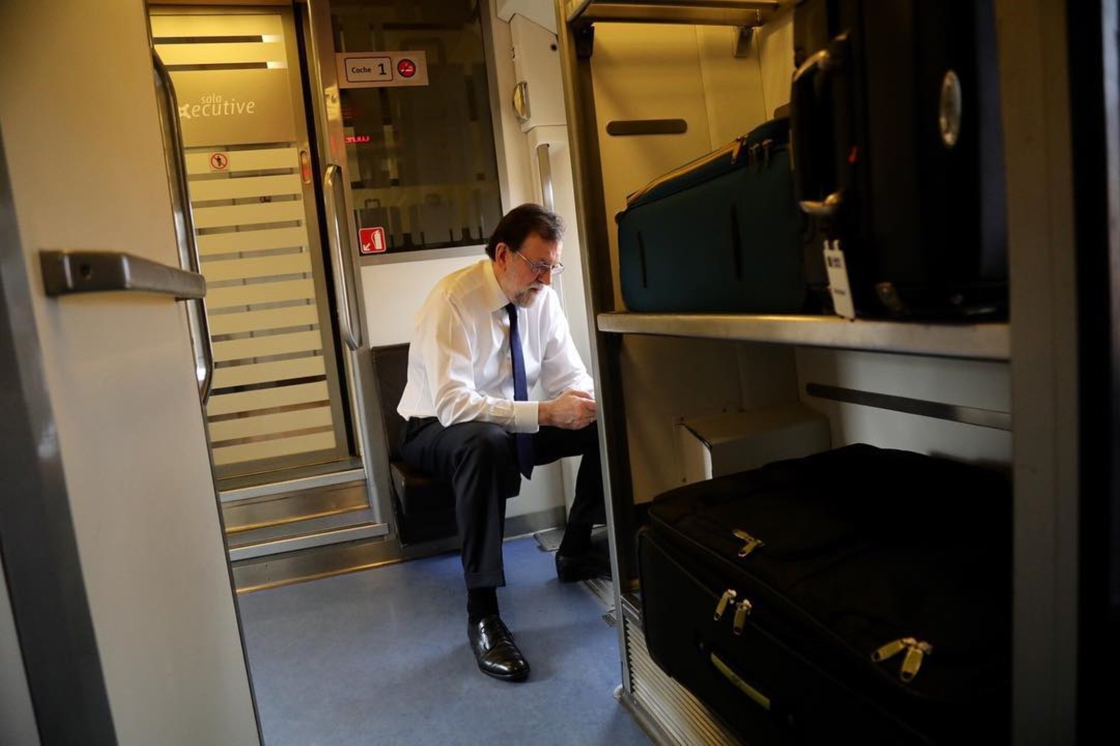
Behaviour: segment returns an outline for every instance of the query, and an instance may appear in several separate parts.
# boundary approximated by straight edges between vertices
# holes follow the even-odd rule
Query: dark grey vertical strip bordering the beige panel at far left
[[[28,276],[0,132],[0,577],[39,738],[115,743]]]

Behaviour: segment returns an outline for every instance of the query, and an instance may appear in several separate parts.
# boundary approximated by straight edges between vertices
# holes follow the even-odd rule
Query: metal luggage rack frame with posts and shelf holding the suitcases
[[[1067,119],[1070,110],[1058,97],[1039,105],[1044,82],[1065,92],[1071,72],[1062,54],[1066,26],[1060,11],[1044,12],[1045,3],[1002,3],[1006,18],[1015,18],[1015,32],[1001,34],[998,55],[1007,155],[1009,264],[1012,283],[1007,322],[900,322],[833,317],[748,314],[638,313],[624,310],[613,265],[608,214],[601,183],[599,123],[592,79],[595,26],[599,23],[681,23],[738,27],[737,56],[756,28],[765,35],[771,23],[781,28],[793,0],[767,3],[666,2],[665,0],[557,0],[562,22],[558,28],[564,98],[568,111],[572,170],[576,177],[584,251],[587,306],[591,329],[592,367],[599,393],[599,436],[606,472],[605,493],[616,572],[620,667],[624,686],[619,701],[654,735],[656,743],[735,743],[722,738],[718,718],[694,700],[678,698],[673,681],[659,676],[650,659],[642,630],[641,604],[628,546],[640,525],[633,514],[634,484],[629,472],[627,407],[624,366],[628,349],[646,346],[645,338],[674,337],[729,340],[767,348],[785,346],[801,355],[812,348],[865,350],[997,363],[990,370],[1009,376],[1015,394],[1014,426],[1009,413],[983,413],[996,429],[1010,428],[1015,453],[1016,522],[1012,612],[1014,671],[1011,720],[1016,739],[1037,736],[1064,742],[1075,731],[1076,698],[1070,682],[1076,677],[1079,635],[1058,623],[1062,610],[1076,607],[1076,500],[1079,378],[1075,325],[1076,293],[1073,236],[1073,181]],[[1019,6],[1021,4],[1021,8]],[[1071,3],[1072,4],[1072,3]],[[1015,6],[1016,12],[1010,12]],[[1064,7],[1065,3],[1060,3]],[[722,13],[722,16],[720,15]],[[606,35],[604,35],[606,36]],[[1017,70],[1011,76],[1008,69]],[[1047,157],[1039,158],[1042,149]],[[1053,183],[1063,199],[1049,199],[1037,185]],[[1068,199],[1066,199],[1068,197]],[[634,342],[632,346],[631,342]],[[683,340],[682,340],[683,341]],[[1011,361],[1011,347],[1015,360]],[[703,346],[698,346],[703,347]],[[689,346],[682,348],[692,349]],[[651,344],[645,347],[654,349]],[[754,353],[756,350],[750,350]],[[757,350],[760,353],[769,349]],[[737,353],[746,355],[747,352]],[[816,356],[806,355],[806,358]],[[825,356],[827,357],[827,356]],[[669,359],[666,366],[678,361]],[[902,361],[899,361],[902,362]],[[1000,370],[1000,365],[1006,366]],[[799,381],[803,384],[804,381]],[[809,381],[815,384],[815,381]],[[879,394],[879,389],[875,390]],[[847,402],[866,391],[814,388],[810,396]],[[888,399],[890,397],[887,397]],[[862,400],[861,406],[876,406]],[[890,404],[880,400],[878,405]],[[898,404],[895,402],[894,404]],[[967,404],[967,402],[964,403]],[[892,407],[886,407],[892,408]],[[629,412],[638,410],[632,408]],[[902,410],[902,409],[899,409]],[[923,413],[918,413],[923,414]],[[622,578],[622,582],[619,582]],[[1044,610],[1039,613],[1038,610]],[[1057,610],[1057,611],[1054,611]],[[668,683],[665,683],[668,682]],[[662,684],[665,683],[665,687]],[[666,692],[665,689],[672,691]]]

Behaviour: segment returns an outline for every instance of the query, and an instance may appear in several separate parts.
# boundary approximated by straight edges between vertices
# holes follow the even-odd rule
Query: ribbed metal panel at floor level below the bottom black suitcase
[[[631,693],[664,735],[681,746],[712,744],[735,746],[740,742],[730,735],[711,711],[688,689],[662,671],[645,646],[641,624],[623,615],[626,625],[626,659],[629,662]]]

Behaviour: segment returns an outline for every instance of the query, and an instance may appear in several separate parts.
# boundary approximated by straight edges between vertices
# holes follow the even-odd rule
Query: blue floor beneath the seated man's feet
[[[616,630],[552,563],[532,537],[505,544],[522,683],[475,667],[457,555],[241,596],[265,745],[648,744],[613,697]]]

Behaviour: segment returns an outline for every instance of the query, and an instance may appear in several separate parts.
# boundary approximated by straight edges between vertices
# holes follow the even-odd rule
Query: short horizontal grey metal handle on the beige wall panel
[[[177,301],[206,295],[206,278],[122,252],[39,252],[47,295],[133,292],[174,295]]]

